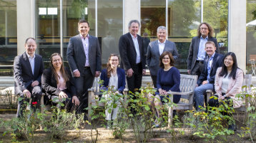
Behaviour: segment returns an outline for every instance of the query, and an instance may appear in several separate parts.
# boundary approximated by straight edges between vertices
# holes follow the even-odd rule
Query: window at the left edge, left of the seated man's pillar
[[[17,55],[16,0],[0,1],[0,75],[12,75]]]

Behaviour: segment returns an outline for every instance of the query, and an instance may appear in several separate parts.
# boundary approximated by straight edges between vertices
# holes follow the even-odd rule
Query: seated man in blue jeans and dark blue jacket
[[[204,59],[204,70],[197,80],[197,88],[195,88],[195,107],[200,111],[204,106],[204,97],[206,90],[214,90],[215,73],[217,68],[223,64],[223,55],[216,53],[215,43],[207,41],[205,43],[205,51],[207,56]]]

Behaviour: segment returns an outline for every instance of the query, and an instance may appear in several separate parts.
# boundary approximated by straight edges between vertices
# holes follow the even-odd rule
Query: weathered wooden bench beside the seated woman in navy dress
[[[168,92],[170,95],[181,95],[180,101],[176,106],[168,107],[168,127],[172,124],[173,110],[192,110],[194,102],[194,90],[197,85],[197,75],[180,75],[180,91]],[[173,101],[173,96],[170,97]]]

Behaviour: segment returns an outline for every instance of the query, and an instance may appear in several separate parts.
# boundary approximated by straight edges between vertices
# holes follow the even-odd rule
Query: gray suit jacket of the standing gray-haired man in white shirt
[[[172,53],[174,60],[178,60],[179,55],[174,42],[165,41],[164,51],[169,51]],[[147,66],[149,67],[150,75],[157,75],[157,71],[159,70],[159,57],[158,40],[149,43],[147,47]]]

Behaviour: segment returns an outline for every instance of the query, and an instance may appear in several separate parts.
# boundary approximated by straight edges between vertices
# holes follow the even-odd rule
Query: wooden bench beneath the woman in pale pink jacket
[[[251,91],[251,85],[252,85],[252,75],[245,75],[244,81],[242,83],[242,93],[250,93]],[[210,100],[210,97],[214,95],[215,92],[212,90],[206,90],[207,95],[207,102]],[[245,104],[243,104],[241,107],[235,108],[237,111],[243,111],[245,112],[245,117],[247,117],[247,107],[249,107],[249,100],[250,98],[245,97]]]

